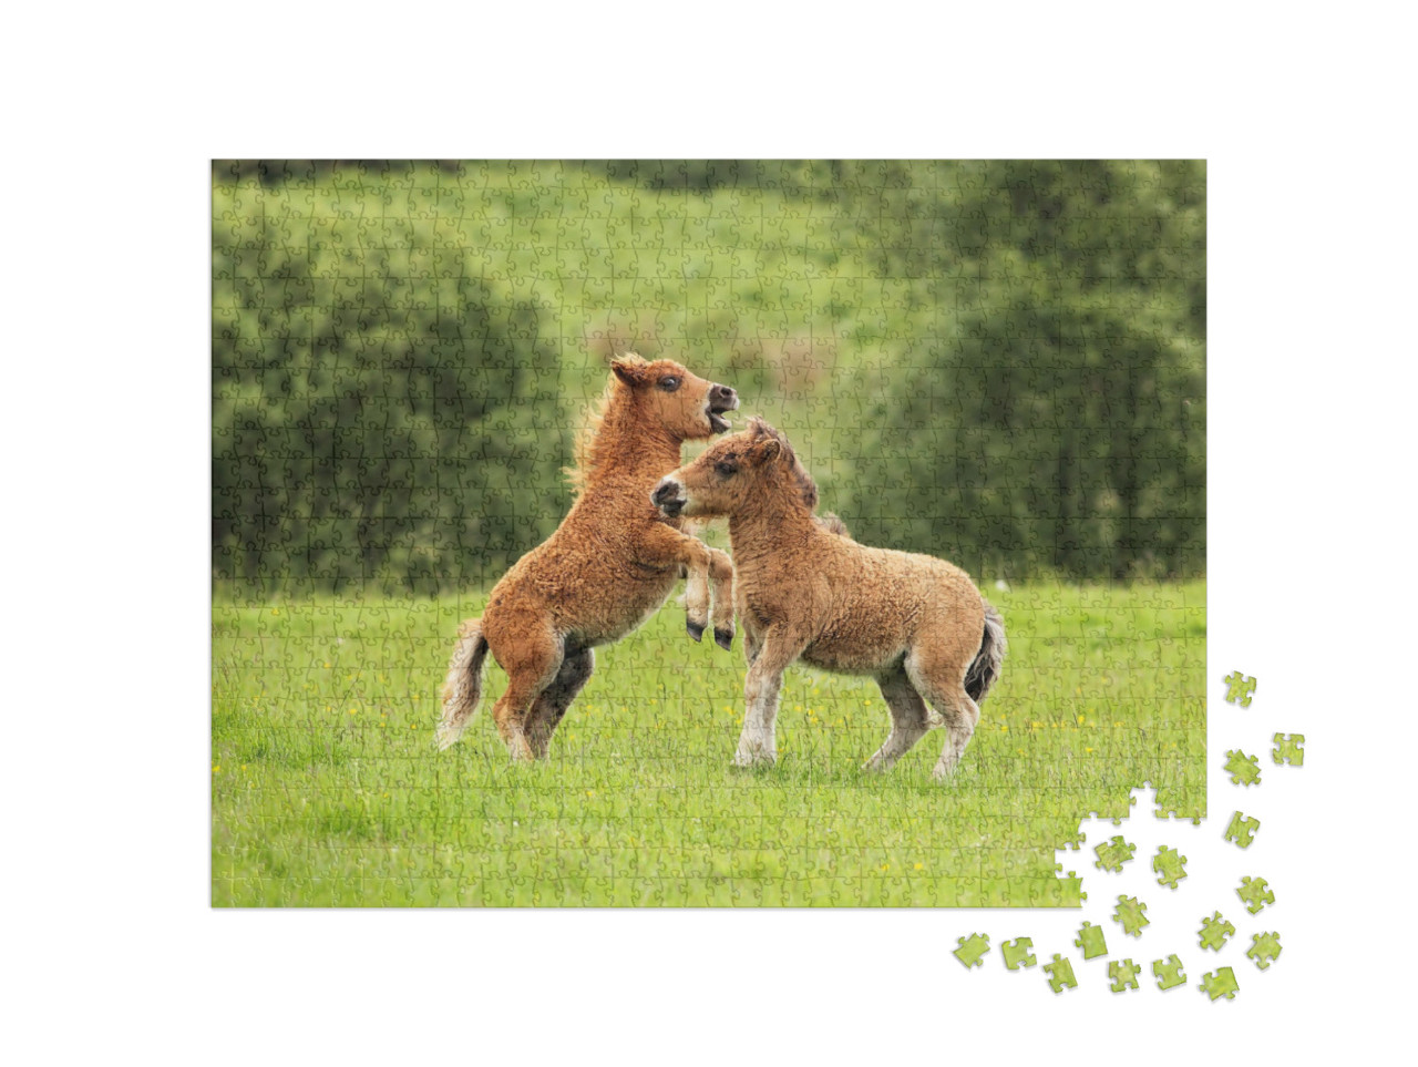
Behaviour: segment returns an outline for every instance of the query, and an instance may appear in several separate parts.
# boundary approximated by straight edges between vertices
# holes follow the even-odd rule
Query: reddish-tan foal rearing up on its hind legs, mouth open
[[[685,441],[729,429],[722,416],[739,397],[669,359],[627,353],[611,370],[600,410],[577,440],[571,511],[493,586],[482,617],[458,629],[438,748],[452,745],[476,709],[491,650],[508,673],[492,708],[498,734],[513,759],[545,758],[591,677],[591,648],[644,623],[685,572],[689,633],[696,640],[703,633],[712,585],[715,637],[725,648],[733,640],[729,556],[681,532],[681,521],[657,511],[649,492],[679,464]]]

